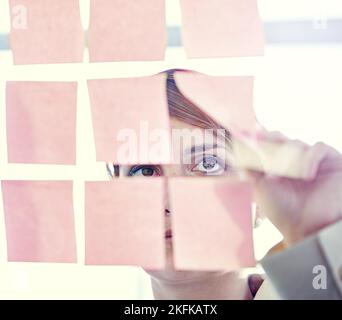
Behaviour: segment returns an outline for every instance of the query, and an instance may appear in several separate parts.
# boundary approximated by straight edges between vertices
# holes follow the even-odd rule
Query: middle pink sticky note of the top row
[[[92,62],[163,60],[165,0],[91,0]]]

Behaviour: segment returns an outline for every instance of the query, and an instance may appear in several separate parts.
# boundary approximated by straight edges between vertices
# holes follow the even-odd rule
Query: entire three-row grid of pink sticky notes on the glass
[[[164,0],[91,0],[87,39],[79,4],[9,0],[14,64],[82,63],[86,44],[90,62],[164,59]],[[180,7],[189,58],[263,53],[256,0],[181,0]],[[236,132],[255,128],[252,77],[190,71],[176,71],[174,77],[181,93],[222,126]],[[157,151],[142,137],[144,128],[170,132],[166,84],[167,74],[162,72],[88,79],[96,161],[170,163],[169,135]],[[7,162],[77,166],[77,98],[77,82],[8,81]],[[137,137],[136,154],[121,152],[120,142],[127,135]],[[78,251],[84,250],[86,265],[163,269],[168,203],[177,269],[235,270],[255,263],[252,196],[245,183],[126,177],[85,180],[84,191],[82,247],[76,240],[72,180],[2,180],[8,261],[76,263]],[[194,198],[198,200],[191,201]]]

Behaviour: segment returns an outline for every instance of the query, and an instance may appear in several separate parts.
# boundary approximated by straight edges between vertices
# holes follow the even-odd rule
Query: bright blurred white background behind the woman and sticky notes
[[[208,0],[209,1],[209,0]],[[135,267],[84,266],[84,180],[106,179],[103,163],[95,163],[86,79],[150,75],[169,68],[188,68],[212,75],[254,75],[254,105],[259,121],[270,130],[308,143],[324,141],[342,151],[342,41],[330,36],[342,21],[341,0],[259,0],[269,36],[264,57],[187,60],[181,47],[170,46],[162,62],[85,63],[14,66],[9,50],[8,1],[0,0],[0,179],[72,179],[78,264],[8,263],[5,226],[0,201],[0,298],[152,298],[149,278]],[[81,0],[87,29],[89,1]],[[177,0],[166,0],[168,27],[180,25]],[[284,23],[303,22],[303,32],[318,40],[303,43],[293,30],[281,33]],[[290,32],[290,29],[292,30]],[[301,30],[297,30],[298,33]],[[329,37],[329,41],[326,38]],[[305,38],[305,37],[304,37]],[[283,40],[286,39],[286,41]],[[277,41],[279,40],[279,41]],[[1,50],[2,49],[2,50]],[[5,82],[8,80],[78,81],[77,166],[9,165],[6,152]],[[1,193],[0,193],[1,197]],[[1,200],[1,199],[0,199]],[[281,240],[269,222],[255,229],[255,254],[260,259]]]

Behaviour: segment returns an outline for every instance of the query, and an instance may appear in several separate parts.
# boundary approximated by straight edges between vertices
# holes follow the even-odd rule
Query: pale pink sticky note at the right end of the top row
[[[264,34],[257,0],[180,0],[190,58],[258,56]]]

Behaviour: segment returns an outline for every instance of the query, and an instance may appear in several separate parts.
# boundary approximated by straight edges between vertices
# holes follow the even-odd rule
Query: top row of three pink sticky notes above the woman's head
[[[88,27],[79,0],[9,0],[15,64],[163,60],[165,0],[91,0]],[[258,56],[264,34],[257,0],[181,0],[189,58]],[[85,37],[84,29],[87,29]]]

